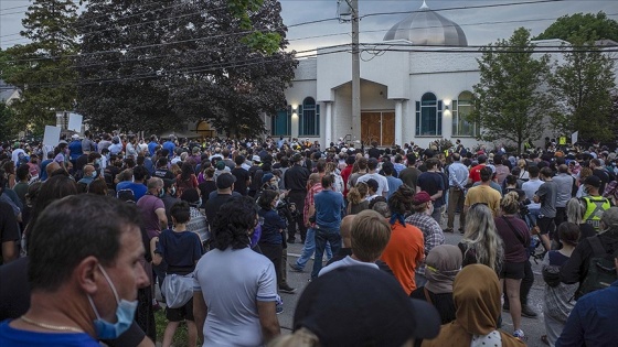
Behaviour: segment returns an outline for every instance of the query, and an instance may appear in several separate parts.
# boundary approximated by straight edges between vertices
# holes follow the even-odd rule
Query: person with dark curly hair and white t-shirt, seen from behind
[[[258,225],[248,196],[232,197],[214,218],[213,249],[198,262],[193,295],[204,346],[259,346],[280,334],[275,267],[249,248]]]

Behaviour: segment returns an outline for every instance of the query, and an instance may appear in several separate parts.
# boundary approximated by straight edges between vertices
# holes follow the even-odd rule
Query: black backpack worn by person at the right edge
[[[590,292],[606,289],[618,279],[614,257],[605,250],[600,239],[597,236],[593,236],[588,238],[588,242],[593,248],[593,257],[588,264],[588,274],[586,274],[582,285],[577,289],[575,300]]]

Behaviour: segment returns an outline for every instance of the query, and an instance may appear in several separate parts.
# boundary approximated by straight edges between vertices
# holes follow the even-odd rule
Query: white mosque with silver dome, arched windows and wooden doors
[[[425,147],[437,139],[459,139],[473,147],[480,129],[465,115],[472,109],[481,54],[467,46],[464,30],[424,2],[391,28],[374,52],[371,44],[361,44],[360,131],[352,129],[350,45],[318,48],[316,57],[300,59],[286,90],[287,110],[266,116],[266,127],[273,137],[320,143],[344,138],[380,147],[411,141]]]

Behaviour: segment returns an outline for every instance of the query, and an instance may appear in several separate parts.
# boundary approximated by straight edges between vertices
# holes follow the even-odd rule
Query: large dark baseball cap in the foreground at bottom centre
[[[301,327],[316,334],[321,346],[399,347],[413,337],[436,337],[440,317],[382,270],[342,267],[305,289],[294,315],[294,329]]]

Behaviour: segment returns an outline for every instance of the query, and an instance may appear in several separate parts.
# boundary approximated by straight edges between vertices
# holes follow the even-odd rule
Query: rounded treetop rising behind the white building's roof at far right
[[[584,42],[614,40],[618,42],[618,22],[607,18],[604,12],[575,13],[558,18],[550,28],[533,40],[561,39],[571,42],[572,37]]]

